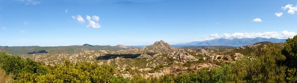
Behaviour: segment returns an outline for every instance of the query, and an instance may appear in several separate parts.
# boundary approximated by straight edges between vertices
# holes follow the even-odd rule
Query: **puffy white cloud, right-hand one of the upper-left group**
[[[99,23],[96,23],[95,21],[99,21],[99,17],[98,16],[93,16],[93,21],[91,19],[91,16],[87,15],[87,20],[89,21],[89,24],[87,25],[87,27],[91,27],[91,28],[100,28]]]

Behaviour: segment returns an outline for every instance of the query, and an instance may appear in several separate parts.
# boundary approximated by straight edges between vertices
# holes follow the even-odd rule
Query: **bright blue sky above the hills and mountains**
[[[296,8],[297,0],[0,0],[0,45],[285,39],[297,35]]]

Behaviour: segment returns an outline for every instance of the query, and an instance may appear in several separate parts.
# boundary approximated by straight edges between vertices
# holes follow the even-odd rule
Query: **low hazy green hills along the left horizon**
[[[79,53],[83,50],[124,50],[131,49],[135,47],[117,45],[71,45],[71,46],[0,46],[0,50],[6,51],[12,55],[23,55],[23,54],[37,54],[37,53],[50,53],[50,54],[59,54],[59,53]]]

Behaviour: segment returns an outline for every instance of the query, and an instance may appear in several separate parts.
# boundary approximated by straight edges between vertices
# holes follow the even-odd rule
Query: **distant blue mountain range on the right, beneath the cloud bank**
[[[188,43],[179,43],[177,45],[250,45],[257,42],[286,42],[286,39],[276,39],[276,38],[244,38],[244,39],[214,39],[211,41],[203,42],[188,42]]]

